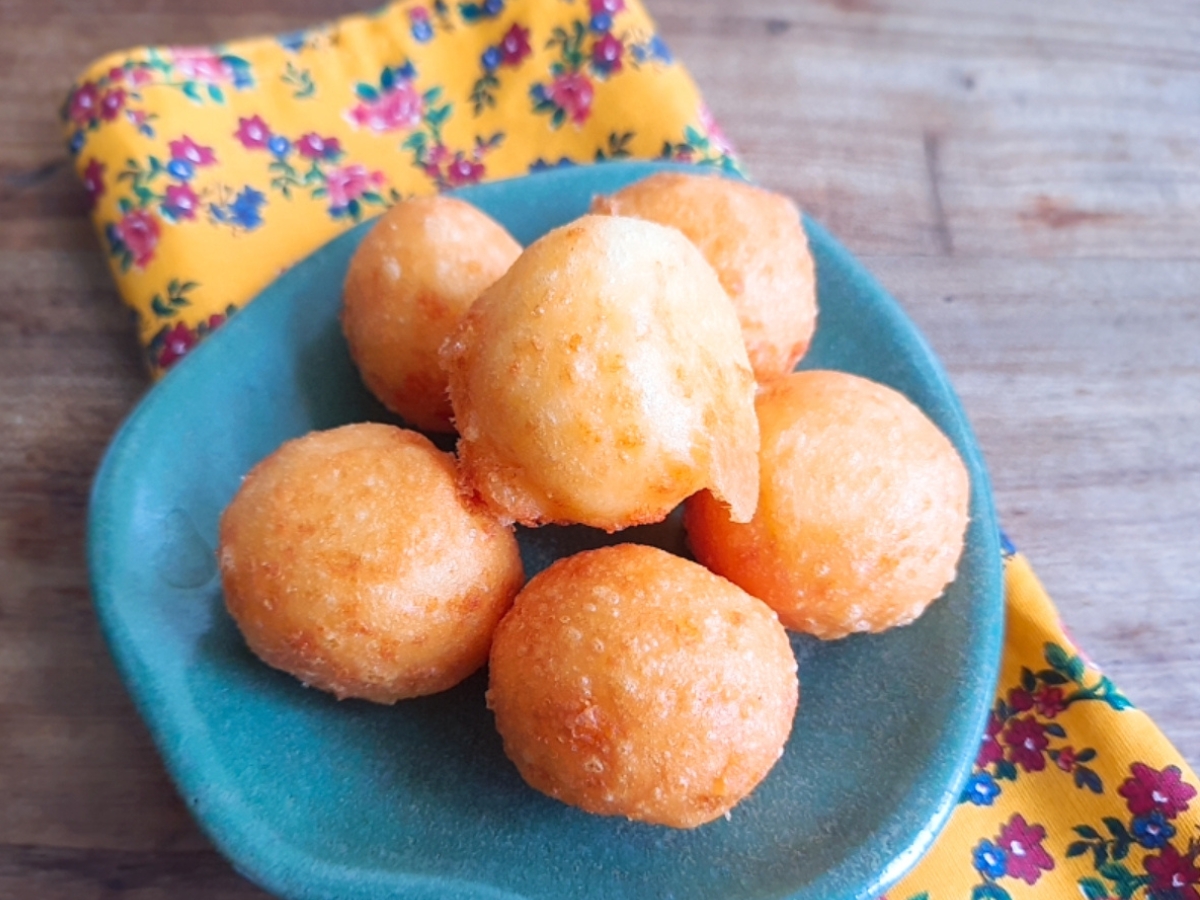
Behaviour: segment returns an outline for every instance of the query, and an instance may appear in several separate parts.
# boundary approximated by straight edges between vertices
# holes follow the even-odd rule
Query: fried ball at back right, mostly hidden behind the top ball
[[[800,214],[782,194],[714,175],[665,172],[598,197],[595,212],[683,232],[733,300],[755,377],[792,371],[816,329],[816,274]]]

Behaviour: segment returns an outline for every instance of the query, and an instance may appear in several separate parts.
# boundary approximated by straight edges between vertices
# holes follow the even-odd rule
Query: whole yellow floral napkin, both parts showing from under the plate
[[[62,118],[155,374],[392,200],[641,157],[734,168],[638,0],[402,0],[95,64]],[[1180,755],[1084,659],[1025,559],[966,790],[892,900],[1200,900]]]

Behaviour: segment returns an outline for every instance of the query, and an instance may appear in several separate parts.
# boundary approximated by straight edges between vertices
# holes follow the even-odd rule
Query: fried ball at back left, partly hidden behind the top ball
[[[452,197],[401,200],[359,245],[342,330],[367,389],[418,428],[452,432],[438,350],[521,254],[485,212]]]

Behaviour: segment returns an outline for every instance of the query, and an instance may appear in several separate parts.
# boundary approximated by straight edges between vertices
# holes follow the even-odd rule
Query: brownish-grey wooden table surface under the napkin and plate
[[[0,898],[265,896],[197,832],[92,614],[88,487],[146,382],[58,104],[110,49],[366,6],[0,0]],[[649,6],[751,174],[924,329],[1006,530],[1200,763],[1195,0]]]

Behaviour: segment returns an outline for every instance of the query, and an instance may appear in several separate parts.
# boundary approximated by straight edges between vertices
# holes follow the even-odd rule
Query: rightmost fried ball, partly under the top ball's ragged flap
[[[905,625],[954,580],[971,484],[953,444],[904,395],[844,372],[764,388],[762,488],[749,524],[704,494],[696,558],[790,629],[832,640]]]

